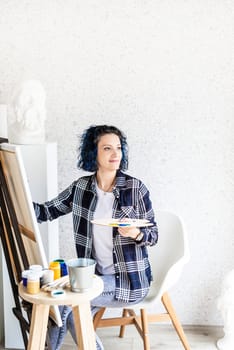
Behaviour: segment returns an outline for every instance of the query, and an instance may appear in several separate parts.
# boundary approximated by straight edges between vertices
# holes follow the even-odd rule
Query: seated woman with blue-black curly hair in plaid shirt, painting
[[[114,126],[90,126],[81,137],[78,168],[93,172],[74,181],[57,198],[34,203],[38,222],[72,212],[78,257],[94,258],[96,273],[104,282],[103,293],[92,300],[92,312],[100,307],[123,307],[139,303],[152,280],[147,246],[156,244],[157,225],[149,191],[138,179],[123,171],[128,168],[128,147],[124,134]],[[147,219],[152,226],[104,227],[93,219]],[[64,308],[64,328],[52,330],[54,349],[59,349],[66,327],[73,337],[72,313]],[[103,349],[97,339],[97,349]]]

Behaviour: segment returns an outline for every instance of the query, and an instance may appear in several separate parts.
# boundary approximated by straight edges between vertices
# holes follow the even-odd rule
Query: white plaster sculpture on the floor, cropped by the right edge
[[[220,350],[234,349],[234,270],[225,276],[222,283],[221,295],[217,303],[218,310],[224,321],[224,337],[217,342]]]

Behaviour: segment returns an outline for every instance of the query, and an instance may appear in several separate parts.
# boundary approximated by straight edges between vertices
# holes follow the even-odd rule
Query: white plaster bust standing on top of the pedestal
[[[38,80],[26,80],[15,91],[12,110],[15,117],[9,126],[9,142],[37,144],[45,142],[46,94]]]

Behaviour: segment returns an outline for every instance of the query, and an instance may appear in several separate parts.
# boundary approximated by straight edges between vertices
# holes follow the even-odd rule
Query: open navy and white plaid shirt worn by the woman
[[[152,280],[147,246],[157,243],[158,230],[149,191],[138,179],[117,171],[113,189],[113,218],[147,219],[153,226],[141,229],[143,240],[138,243],[122,237],[113,228],[113,262],[116,277],[116,299],[135,301],[146,296]],[[44,204],[34,203],[38,222],[53,220],[72,212],[73,230],[78,257],[92,257],[91,220],[97,204],[95,174],[74,181],[56,198]]]

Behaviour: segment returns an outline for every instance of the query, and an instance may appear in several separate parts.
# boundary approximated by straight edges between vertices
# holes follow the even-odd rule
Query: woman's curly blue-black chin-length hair
[[[128,169],[127,138],[122,131],[110,125],[91,125],[83,132],[78,149],[77,166],[79,169],[91,172],[97,171],[97,145],[100,137],[106,134],[115,134],[119,137],[122,148],[122,159],[119,168],[120,170]]]

